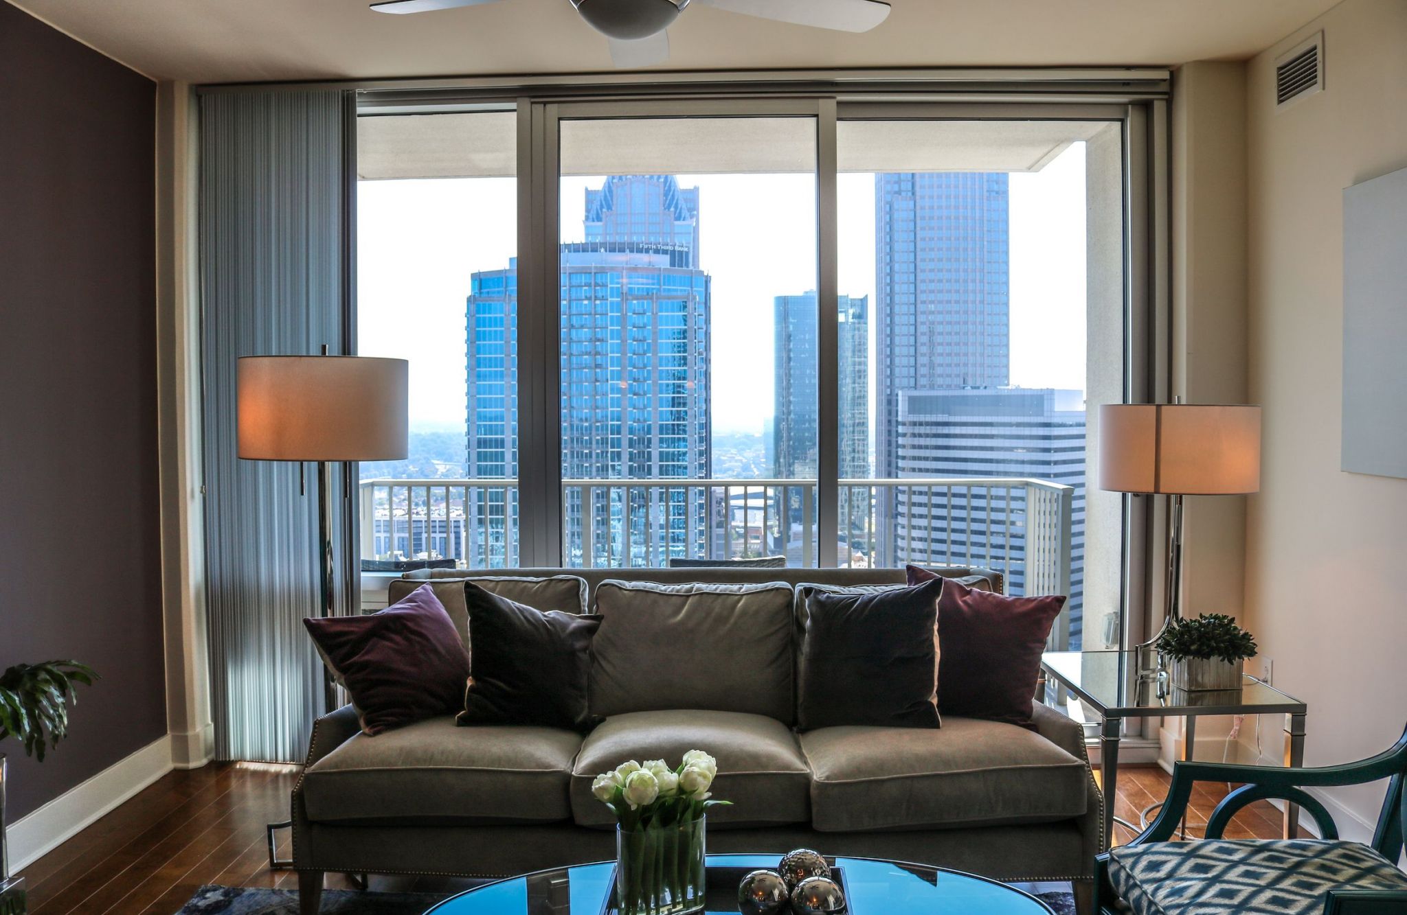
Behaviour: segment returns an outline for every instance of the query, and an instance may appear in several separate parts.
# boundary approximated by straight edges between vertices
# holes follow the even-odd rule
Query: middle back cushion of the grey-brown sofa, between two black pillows
[[[702,708],[792,724],[792,589],[602,582],[591,713]]]

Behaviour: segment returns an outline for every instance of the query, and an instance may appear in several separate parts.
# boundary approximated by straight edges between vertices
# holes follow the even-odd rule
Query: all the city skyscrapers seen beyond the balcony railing
[[[1051,444],[1050,433],[1043,429],[1059,427],[1064,443],[1059,448],[1078,444],[1074,455],[1078,460],[1072,467],[1057,468],[1058,478],[1078,488],[1076,505],[1082,509],[1083,412],[1065,409],[1071,402],[1082,408],[1082,392],[1058,389],[1062,416],[1054,424],[1037,423],[1038,429],[1026,422],[1029,415],[1009,412],[1009,405],[1057,391],[1050,385],[1041,389],[1010,385],[1010,177],[1006,173],[870,176],[874,298],[837,297],[841,413],[837,469],[843,479],[1051,478],[1047,471],[1054,472],[1052,468],[1040,457]],[[713,409],[715,388],[740,379],[753,392],[746,403],[763,416],[761,436],[750,434],[763,444],[764,469],[770,468],[774,478],[813,479],[820,361],[815,287],[778,291],[785,277],[761,274],[767,277],[761,288],[749,290],[747,295],[756,301],[768,294],[770,333],[751,333],[767,325],[754,313],[741,339],[754,350],[765,342],[771,351],[761,365],[754,363],[739,374],[736,361],[718,358],[719,347],[736,347],[740,337],[718,325],[712,263],[701,254],[709,223],[699,214],[705,202],[713,211],[712,198],[675,176],[609,176],[599,183],[585,181],[580,191],[582,205],[574,211],[580,214],[580,233],[564,226],[561,238],[581,240],[563,240],[559,247],[563,479],[712,476],[713,436],[725,433]],[[771,215],[758,211],[758,221],[771,225],[772,233],[788,225],[785,214],[768,222]],[[754,252],[754,260],[765,267],[775,259],[761,249]],[[736,284],[737,278],[733,280]],[[737,294],[736,287],[729,292]],[[504,266],[471,274],[471,291],[464,299],[461,375],[464,467],[470,478],[516,476],[518,385],[512,357],[516,315],[514,257]],[[771,409],[757,410],[756,403],[763,398],[756,395],[768,391]],[[976,427],[934,415],[916,431],[915,422],[905,419],[910,399],[922,395],[926,402],[936,402],[953,392],[968,396],[981,392],[995,406]],[[1076,434],[1078,443],[1072,437]],[[971,441],[983,437],[991,441],[981,446]],[[947,453],[947,458],[920,461],[915,458],[919,453],[929,457]],[[960,454],[965,457],[955,457]],[[909,460],[900,461],[902,455]],[[749,464],[756,467],[746,457],[732,457],[734,468]],[[919,507],[931,527],[936,521],[927,519],[933,506],[916,506],[905,489],[902,484],[888,484],[875,488],[872,496],[847,495],[846,530],[837,531],[846,541],[841,544],[846,564],[933,561],[934,541],[916,537],[912,521]],[[763,521],[763,503],[746,492],[719,502],[716,493],[699,488],[571,486],[563,493],[564,561],[663,565],[674,555],[718,554],[719,543],[711,538],[720,534],[708,519],[719,510],[736,516],[727,527],[741,524],[736,530],[744,544],[756,543],[768,552],[795,552],[801,559],[806,530],[815,536],[808,498],[795,486],[787,488],[785,496],[781,491],[768,496],[779,524],[771,528]],[[514,488],[485,488],[484,495],[474,496],[474,505],[466,510],[485,523],[463,528],[464,537],[483,538],[464,548],[467,555],[488,557],[490,565],[507,562],[516,530],[516,499]],[[896,512],[896,499],[903,500],[905,512]],[[1016,509],[1023,506],[1023,498],[1017,496]],[[1075,614],[1082,578],[1082,510],[1076,510],[1072,519],[1076,568],[1071,588]],[[950,516],[943,524],[951,521]],[[947,561],[991,559],[993,534],[974,526],[971,517],[965,523],[960,538],[951,530],[943,531],[946,544],[957,548],[947,554]],[[1012,523],[1005,521],[1007,527]],[[1003,561],[1016,562],[1013,568],[1024,561],[1023,537],[1017,530],[1005,540]],[[719,555],[729,555],[737,545],[732,533],[722,543]],[[985,543],[981,557],[975,551],[979,543]],[[1013,572],[1012,583],[1020,589],[1021,573]]]

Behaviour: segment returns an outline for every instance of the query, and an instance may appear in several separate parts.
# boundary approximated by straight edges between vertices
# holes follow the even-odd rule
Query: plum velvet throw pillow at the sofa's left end
[[[366,734],[463,708],[469,652],[429,585],[378,613],[303,624]]]

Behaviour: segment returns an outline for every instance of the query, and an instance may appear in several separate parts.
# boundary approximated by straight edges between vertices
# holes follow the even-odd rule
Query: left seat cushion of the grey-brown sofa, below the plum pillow
[[[454,727],[442,715],[357,734],[303,777],[314,822],[529,824],[571,819],[581,735],[533,725]]]

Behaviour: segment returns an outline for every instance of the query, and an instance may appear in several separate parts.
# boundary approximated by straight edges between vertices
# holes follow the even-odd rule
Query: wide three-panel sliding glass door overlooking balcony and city
[[[1086,471],[1092,405],[1159,371],[1147,107],[367,115],[360,350],[412,367],[412,457],[363,467],[367,573],[982,566],[1071,596],[1055,647],[1128,635],[1151,538]]]

